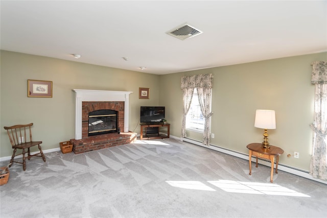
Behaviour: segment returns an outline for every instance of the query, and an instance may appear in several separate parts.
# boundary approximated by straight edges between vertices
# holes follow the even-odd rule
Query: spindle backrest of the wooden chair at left
[[[7,130],[11,146],[17,146],[18,144],[32,141],[31,126],[33,126],[33,123],[4,127],[5,130]],[[28,135],[26,135],[26,132],[28,132]]]

